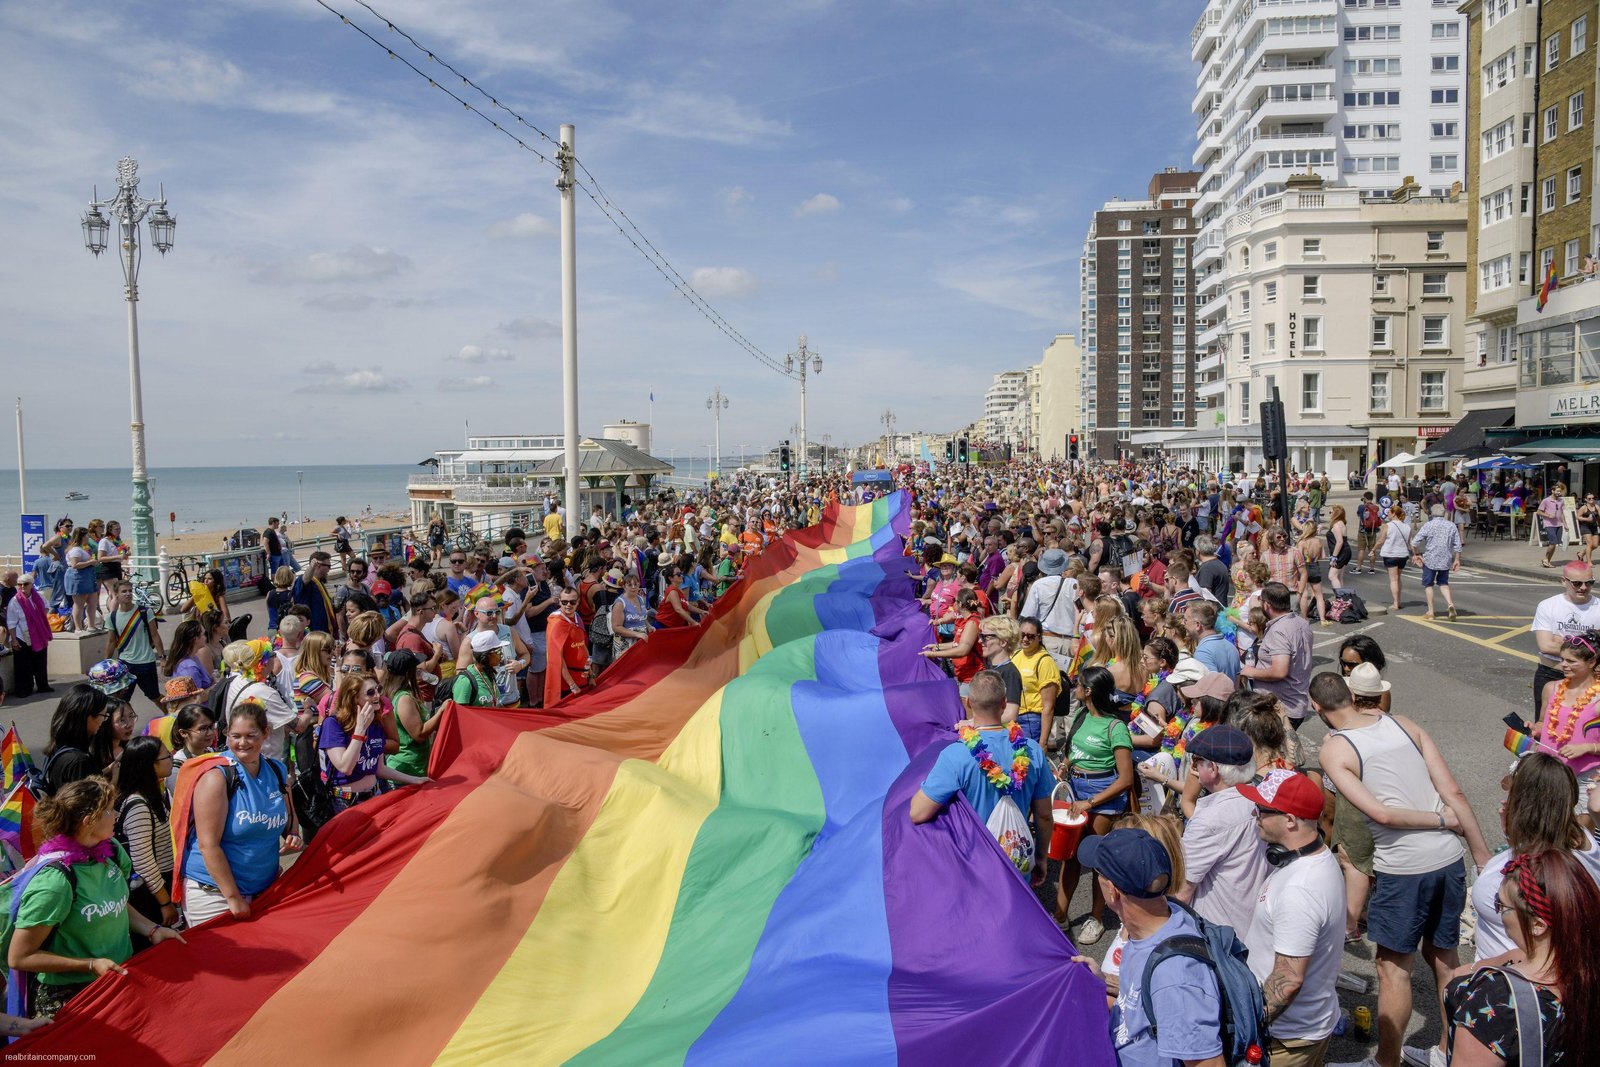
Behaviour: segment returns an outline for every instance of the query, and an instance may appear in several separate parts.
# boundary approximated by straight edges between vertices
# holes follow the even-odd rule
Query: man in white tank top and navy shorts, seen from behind
[[[1331,672],[1310,680],[1310,702],[1330,729],[1323,774],[1373,827],[1376,878],[1366,936],[1378,947],[1376,1061],[1400,1067],[1418,947],[1434,969],[1442,1019],[1445,984],[1461,966],[1456,945],[1467,899],[1461,838],[1478,867],[1490,849],[1466,793],[1421,726],[1357,710],[1350,688]]]

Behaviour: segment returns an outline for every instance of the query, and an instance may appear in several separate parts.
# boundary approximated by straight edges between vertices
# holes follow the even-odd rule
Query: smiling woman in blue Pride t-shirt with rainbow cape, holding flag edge
[[[194,832],[184,845],[184,921],[197,926],[229,912],[250,918],[250,902],[278,877],[278,856],[301,849],[283,763],[262,758],[267,712],[240,701],[227,713],[226,755],[238,789],[227,793],[221,766],[194,787]]]

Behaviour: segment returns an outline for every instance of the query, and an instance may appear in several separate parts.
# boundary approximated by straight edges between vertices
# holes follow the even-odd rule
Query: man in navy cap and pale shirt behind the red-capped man
[[[1250,929],[1256,894],[1272,872],[1256,833],[1256,805],[1237,789],[1256,776],[1256,749],[1243,731],[1218,723],[1189,742],[1189,757],[1205,793],[1184,827],[1184,885],[1173,896],[1202,918]]]

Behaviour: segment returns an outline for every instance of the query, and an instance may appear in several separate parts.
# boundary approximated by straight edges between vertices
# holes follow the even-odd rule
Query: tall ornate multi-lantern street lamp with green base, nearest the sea
[[[104,213],[102,213],[104,211]],[[107,218],[109,216],[109,218]],[[123,299],[128,301],[128,400],[133,408],[133,528],[136,569],[149,571],[155,557],[155,523],[150,520],[150,475],[144,462],[144,395],[139,389],[139,222],[149,216],[150,243],[163,256],[173,248],[178,219],[166,211],[166,189],[155,200],[139,195],[139,163],[131,157],[117,160],[117,195],[101,200],[90,194],[90,210],[83,213],[83,246],[96,258],[109,246],[110,224],[117,222],[122,261]]]

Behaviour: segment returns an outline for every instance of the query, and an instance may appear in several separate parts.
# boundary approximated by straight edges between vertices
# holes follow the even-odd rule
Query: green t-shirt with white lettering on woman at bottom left
[[[117,857],[109,864],[74,864],[78,891],[74,896],[67,877],[54,867],[34,875],[22,891],[16,913],[18,929],[54,926],[45,941],[50,952],[80,960],[104,957],[126,963],[133,955],[128,936],[128,853],[114,841]],[[40,974],[43,985],[82,985],[93,974]]]

